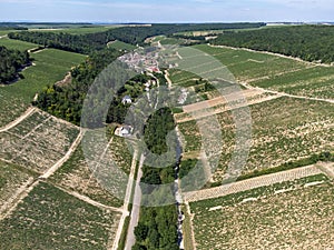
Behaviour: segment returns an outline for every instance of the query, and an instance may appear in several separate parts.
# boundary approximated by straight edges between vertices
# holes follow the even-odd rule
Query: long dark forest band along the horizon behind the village
[[[89,54],[102,50],[109,41],[119,40],[130,44],[144,44],[146,38],[158,34],[174,34],[183,31],[259,28],[265,23],[206,23],[206,24],[153,24],[148,27],[121,27],[104,32],[69,34],[65,32],[11,32],[10,39],[18,39],[45,47]]]

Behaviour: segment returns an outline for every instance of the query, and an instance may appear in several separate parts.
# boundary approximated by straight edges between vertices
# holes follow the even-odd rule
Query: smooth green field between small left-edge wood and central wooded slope
[[[85,56],[48,49],[33,53],[35,66],[21,72],[24,79],[0,87],[0,127],[18,118],[37,92],[67,74],[71,67],[85,60]]]

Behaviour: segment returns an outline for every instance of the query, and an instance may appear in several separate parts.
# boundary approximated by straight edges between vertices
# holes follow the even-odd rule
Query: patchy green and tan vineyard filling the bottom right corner
[[[196,249],[332,249],[324,174],[190,203]]]

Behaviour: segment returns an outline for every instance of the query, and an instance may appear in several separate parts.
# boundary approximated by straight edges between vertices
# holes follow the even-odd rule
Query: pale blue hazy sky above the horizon
[[[0,0],[0,21],[334,21],[333,0]]]

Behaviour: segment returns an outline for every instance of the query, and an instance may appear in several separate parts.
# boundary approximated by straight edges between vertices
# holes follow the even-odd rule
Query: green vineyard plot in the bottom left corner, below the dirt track
[[[119,218],[40,182],[0,222],[0,249],[107,249]]]

